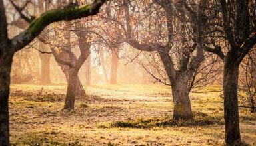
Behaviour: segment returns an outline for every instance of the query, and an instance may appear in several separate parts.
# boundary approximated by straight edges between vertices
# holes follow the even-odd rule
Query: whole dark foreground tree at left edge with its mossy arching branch
[[[47,25],[56,21],[69,21],[95,15],[103,3],[105,0],[95,0],[83,7],[71,6],[47,11],[37,19],[31,19],[30,25],[25,31],[10,39],[7,33],[5,6],[3,0],[0,0],[0,145],[9,145],[8,98],[11,64],[15,52],[27,46]]]

